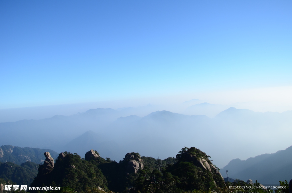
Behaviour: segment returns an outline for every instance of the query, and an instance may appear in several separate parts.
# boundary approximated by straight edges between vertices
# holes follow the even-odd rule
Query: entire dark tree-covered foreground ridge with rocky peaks
[[[98,155],[98,152],[95,151]],[[128,156],[128,157],[127,157]],[[139,153],[127,154],[119,163],[109,158],[90,157],[81,159],[77,154],[64,152],[55,162],[53,169],[40,173],[34,179],[32,187],[60,186],[59,191],[51,193],[272,193],[272,190],[230,189],[229,186],[246,187],[242,180],[224,183],[218,168],[212,164],[210,156],[197,148],[184,147],[176,158],[154,159],[140,156]],[[133,157],[134,156],[134,157]],[[128,173],[129,163],[143,159],[144,167],[139,166],[137,173]],[[135,160],[135,161],[133,161]],[[136,162],[137,163],[137,162]],[[33,168],[29,163],[23,168]],[[39,171],[45,169],[40,165]],[[136,170],[137,171],[137,170]],[[280,185],[287,182],[280,182]],[[260,184],[256,181],[255,186]],[[286,193],[288,189],[277,190]],[[31,191],[33,193],[34,191]],[[37,193],[46,191],[35,191]]]

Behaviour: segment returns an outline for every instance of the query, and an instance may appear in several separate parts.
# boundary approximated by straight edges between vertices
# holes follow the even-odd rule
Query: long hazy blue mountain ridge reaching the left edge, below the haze
[[[90,109],[72,116],[55,115],[42,120],[21,120],[0,123],[0,145],[58,149],[73,138],[91,129],[108,126],[122,113],[111,108]]]

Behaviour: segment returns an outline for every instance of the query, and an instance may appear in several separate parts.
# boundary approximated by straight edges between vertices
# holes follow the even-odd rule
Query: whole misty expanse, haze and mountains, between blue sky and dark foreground
[[[93,148],[116,161],[127,152],[159,153],[165,159],[194,146],[222,168],[232,159],[292,145],[291,88],[1,109],[0,145],[51,148],[81,157]]]

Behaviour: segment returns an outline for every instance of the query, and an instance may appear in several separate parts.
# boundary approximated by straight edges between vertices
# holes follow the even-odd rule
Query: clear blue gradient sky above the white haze
[[[0,1],[0,108],[292,85],[292,1]]]

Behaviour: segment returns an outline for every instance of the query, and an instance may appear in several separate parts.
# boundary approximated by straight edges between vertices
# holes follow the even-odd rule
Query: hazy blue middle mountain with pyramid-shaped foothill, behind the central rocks
[[[182,144],[182,141],[175,141],[175,138],[181,132],[199,134],[201,131],[198,128],[201,128],[201,124],[206,120],[209,118],[205,115],[189,116],[169,111],[156,111],[142,118],[136,115],[119,117],[99,134],[86,131],[62,147],[62,151],[82,153],[88,148],[95,148],[104,157],[115,160],[123,158],[124,155],[120,152],[135,150],[154,157],[157,157],[159,152],[161,156],[166,157],[179,150],[178,144]]]

